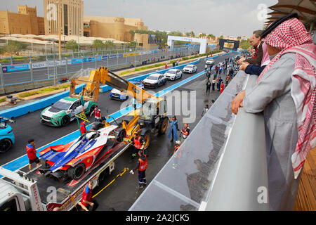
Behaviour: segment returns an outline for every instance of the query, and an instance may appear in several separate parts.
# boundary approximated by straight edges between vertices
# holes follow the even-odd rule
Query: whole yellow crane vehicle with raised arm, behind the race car
[[[75,93],[76,86],[86,84],[82,91]],[[121,129],[125,129],[125,139],[131,139],[134,133],[140,134],[145,139],[145,149],[150,146],[151,134],[164,134],[168,127],[169,118],[166,116],[166,99],[152,96],[139,86],[115,75],[107,68],[91,70],[89,77],[73,78],[70,85],[70,96],[81,101],[98,101],[100,84],[107,84],[114,89],[124,91],[131,98],[135,98],[141,104],[140,110],[134,108],[129,116],[131,121],[123,120]],[[105,122],[105,125],[108,125]]]

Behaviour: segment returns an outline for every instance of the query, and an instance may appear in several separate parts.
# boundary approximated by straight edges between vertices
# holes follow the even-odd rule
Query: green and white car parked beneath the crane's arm
[[[96,108],[95,102],[86,101],[84,103],[84,113],[86,115],[91,113],[94,108]],[[76,119],[75,115],[79,115],[81,112],[82,105],[79,99],[65,97],[41,112],[41,123],[53,127],[66,126]]]

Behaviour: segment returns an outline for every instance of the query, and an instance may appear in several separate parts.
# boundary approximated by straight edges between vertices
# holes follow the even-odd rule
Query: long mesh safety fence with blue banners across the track
[[[190,56],[196,51],[195,48],[185,47],[177,49],[167,49],[167,51],[140,51],[131,53],[107,54],[106,56],[93,56],[81,58],[46,60],[37,63],[27,63],[21,65],[0,65],[0,90],[1,94],[6,91],[8,85],[28,84],[30,82],[53,80],[56,84],[60,79],[67,78],[67,75],[78,72],[84,68],[99,68],[105,66],[110,70],[121,70],[124,68],[135,68],[136,65],[147,65],[157,63],[162,60],[171,60],[184,56]],[[24,90],[18,90],[24,91]]]

